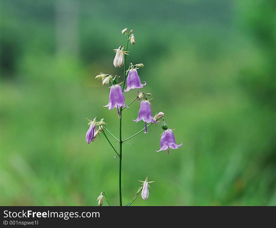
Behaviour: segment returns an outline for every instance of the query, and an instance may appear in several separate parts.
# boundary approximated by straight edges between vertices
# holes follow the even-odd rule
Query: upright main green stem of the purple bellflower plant
[[[125,51],[127,51],[127,47],[128,47],[128,43],[129,43],[129,31],[127,30],[127,40],[126,40],[126,47],[125,47]],[[123,83],[123,92],[124,92],[124,88],[125,88],[125,75],[126,75],[126,54],[125,54],[125,71],[124,71],[124,83]],[[122,206],[122,106],[120,107],[120,123],[119,123],[119,159],[120,159],[120,163],[119,163],[119,202],[120,202],[120,206]]]

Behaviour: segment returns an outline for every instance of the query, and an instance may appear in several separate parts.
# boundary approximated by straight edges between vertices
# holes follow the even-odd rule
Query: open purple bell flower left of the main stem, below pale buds
[[[119,107],[125,107],[125,96],[123,94],[122,88],[120,85],[112,85],[110,88],[110,94],[109,94],[109,103],[105,105],[104,107],[108,107],[109,110],[113,109],[114,107],[117,107],[118,116],[120,116]]]

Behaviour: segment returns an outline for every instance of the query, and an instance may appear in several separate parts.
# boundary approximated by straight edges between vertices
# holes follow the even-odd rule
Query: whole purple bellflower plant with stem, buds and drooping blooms
[[[104,119],[102,118],[100,121],[98,121],[98,118],[95,117],[92,120],[89,120],[89,129],[86,133],[86,142],[89,144],[91,142],[94,142],[97,138],[97,136],[99,136],[100,134],[103,134],[104,137],[106,138],[106,140],[108,141],[108,143],[110,144],[110,146],[113,148],[114,152],[116,153],[115,158],[119,158],[119,205],[122,206],[122,176],[121,176],[121,171],[122,171],[122,144],[125,143],[125,141],[135,137],[136,135],[138,135],[139,133],[143,132],[145,130],[144,133],[147,133],[147,128],[149,126],[151,126],[153,123],[154,124],[159,124],[161,123],[161,127],[164,130],[164,132],[162,133],[161,136],[161,147],[159,151],[162,150],[167,150],[167,154],[169,154],[169,148],[172,149],[177,149],[178,147],[182,146],[182,142],[181,144],[176,144],[175,142],[175,138],[174,138],[174,134],[173,134],[173,129],[169,129],[165,119],[164,119],[164,113],[162,111],[158,112],[157,114],[155,114],[155,116],[152,116],[152,112],[151,112],[151,103],[148,97],[151,96],[151,93],[144,93],[141,91],[141,89],[144,90],[144,86],[146,85],[146,82],[144,81],[144,84],[141,83],[140,77],[138,75],[138,69],[141,67],[144,67],[144,64],[139,63],[139,64],[135,64],[133,65],[132,63],[130,63],[128,70],[126,69],[127,66],[127,56],[130,55],[130,52],[128,51],[128,45],[129,44],[135,44],[135,37],[133,34],[133,30],[131,29],[130,31],[128,30],[128,28],[125,28],[121,31],[121,34],[126,34],[126,45],[120,45],[118,49],[113,49],[115,51],[115,58],[113,61],[113,65],[114,67],[122,67],[124,66],[124,71],[123,71],[123,81],[119,81],[120,77],[115,75],[108,75],[108,74],[104,74],[104,73],[100,73],[99,75],[97,75],[95,78],[98,80],[102,80],[102,84],[103,85],[109,85],[111,84],[110,88],[110,93],[109,93],[109,103],[107,105],[105,105],[104,107],[108,107],[109,110],[112,110],[114,108],[117,109],[117,113],[118,113],[118,117],[119,117],[119,139],[117,137],[115,137],[107,128],[106,128],[106,123],[104,122]],[[127,85],[127,88],[125,89],[125,82]],[[122,85],[122,87],[121,87]],[[125,94],[124,92],[128,92],[131,89],[137,89],[137,96],[134,98],[133,101],[131,101],[128,105],[125,104]],[[139,91],[140,90],[140,91]],[[145,127],[135,133],[134,135],[123,139],[122,138],[122,112],[126,107],[129,107],[133,102],[140,102],[140,109],[138,111],[138,117],[133,121],[135,121],[136,123],[139,121],[144,121],[145,122]],[[161,122],[162,121],[162,122]],[[113,146],[113,144],[110,142],[107,133],[109,133],[109,135],[111,135],[112,137],[114,137],[115,140],[117,140],[117,142],[119,143],[119,152],[117,151],[117,149],[115,149],[115,147]],[[148,177],[146,177],[145,181],[141,181],[143,186],[139,187],[138,191],[136,192],[133,200],[128,203],[125,206],[130,206],[134,200],[138,197],[138,195],[141,193],[141,197],[143,200],[147,200],[149,197],[149,189],[148,187],[150,183],[153,183],[154,181],[148,181]],[[106,198],[106,195],[104,192],[101,192],[101,194],[99,195],[99,197],[97,198],[98,201],[98,205],[101,206],[103,205],[104,199],[107,201],[107,203],[109,204],[109,201]],[[110,204],[109,204],[110,205]]]

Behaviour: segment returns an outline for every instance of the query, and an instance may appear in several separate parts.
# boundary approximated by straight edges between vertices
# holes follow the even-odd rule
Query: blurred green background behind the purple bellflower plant
[[[119,160],[103,135],[86,143],[85,117],[119,135],[94,78],[123,74],[112,49],[126,27],[128,62],[144,63],[142,91],[183,146],[156,153],[160,124],[123,144],[123,204],[148,175],[150,196],[133,205],[276,205],[274,0],[1,0],[0,10],[0,205],[97,205],[101,191],[119,204]],[[123,138],[144,127],[138,110],[124,111]]]

